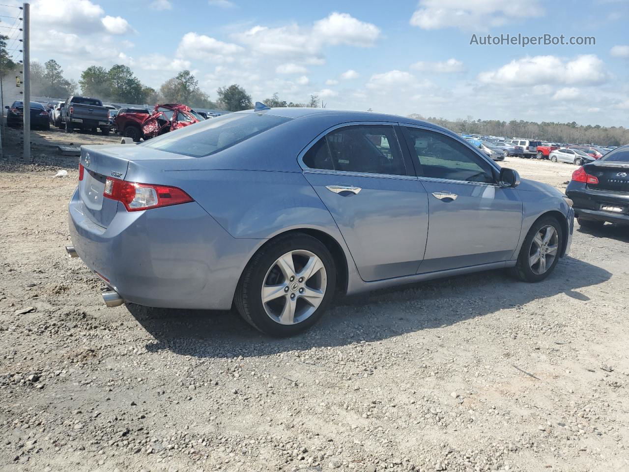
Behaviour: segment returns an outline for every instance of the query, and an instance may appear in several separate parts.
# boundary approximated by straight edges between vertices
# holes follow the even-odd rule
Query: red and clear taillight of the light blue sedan
[[[107,177],[103,196],[118,200],[126,211],[150,210],[193,201],[182,189],[167,185],[140,184]]]

